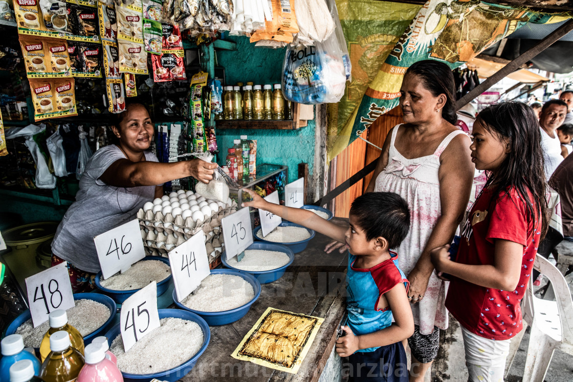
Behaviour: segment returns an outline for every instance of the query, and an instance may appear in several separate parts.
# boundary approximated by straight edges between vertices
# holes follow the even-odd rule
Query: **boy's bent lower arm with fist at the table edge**
[[[375,348],[395,344],[410,337],[414,333],[414,317],[406,295],[404,283],[398,283],[394,288],[384,293],[388,308],[392,311],[392,325],[378,332],[355,336],[348,326],[342,326],[346,335],[336,340],[336,352],[340,357],[348,357],[357,350]]]

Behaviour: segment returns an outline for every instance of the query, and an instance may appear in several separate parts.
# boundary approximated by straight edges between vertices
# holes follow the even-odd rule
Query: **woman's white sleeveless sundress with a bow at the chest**
[[[395,249],[398,264],[406,275],[418,262],[435,223],[442,215],[439,199],[439,156],[458,134],[451,132],[442,140],[432,155],[407,159],[398,152],[394,143],[400,125],[394,127],[388,164],[376,178],[374,191],[395,192],[402,196],[410,207],[410,232],[402,244]],[[420,333],[430,334],[434,326],[448,328],[448,312],[444,302],[449,282],[439,279],[434,272],[430,276],[426,293],[418,304],[411,304],[414,323],[420,326]]]

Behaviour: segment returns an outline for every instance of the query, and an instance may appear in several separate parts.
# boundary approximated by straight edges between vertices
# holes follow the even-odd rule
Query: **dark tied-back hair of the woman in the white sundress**
[[[422,85],[434,97],[445,94],[446,104],[442,109],[442,118],[452,125],[458,120],[456,115],[456,82],[452,69],[443,62],[435,60],[422,60],[414,62],[406,70],[407,74],[414,74],[422,80]]]

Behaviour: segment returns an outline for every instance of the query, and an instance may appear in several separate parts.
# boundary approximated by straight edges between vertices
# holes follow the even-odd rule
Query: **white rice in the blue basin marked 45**
[[[167,317],[161,326],[141,338],[125,353],[121,334],[113,339],[109,350],[117,357],[117,367],[124,373],[158,373],[178,367],[193,357],[203,345],[203,330],[194,321]]]

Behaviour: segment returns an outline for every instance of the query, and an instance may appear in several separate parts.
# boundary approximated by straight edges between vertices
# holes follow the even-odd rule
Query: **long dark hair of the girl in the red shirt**
[[[541,238],[547,233],[549,207],[545,188],[541,133],[537,117],[528,105],[504,102],[482,110],[476,117],[490,133],[507,140],[511,151],[493,176],[488,176],[485,187],[493,187],[496,195],[505,190],[505,196],[515,188],[525,203],[530,223],[541,220]],[[529,192],[533,200],[529,198]],[[516,203],[516,200],[513,200]]]

